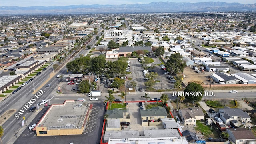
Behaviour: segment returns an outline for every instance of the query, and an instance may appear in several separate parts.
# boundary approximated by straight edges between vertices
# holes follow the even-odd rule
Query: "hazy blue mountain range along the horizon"
[[[151,2],[149,4],[70,5],[70,6],[0,6],[0,14],[95,14],[256,11],[255,4],[226,2]]]

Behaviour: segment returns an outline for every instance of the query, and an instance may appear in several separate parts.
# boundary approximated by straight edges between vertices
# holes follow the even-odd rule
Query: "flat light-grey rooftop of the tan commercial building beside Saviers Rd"
[[[48,129],[82,128],[88,104],[74,100],[66,100],[64,104],[52,104],[38,126],[41,124]]]

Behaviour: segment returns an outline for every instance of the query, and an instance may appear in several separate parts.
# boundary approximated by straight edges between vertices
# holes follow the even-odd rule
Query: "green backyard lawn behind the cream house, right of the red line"
[[[206,126],[203,123],[201,122],[196,122],[196,127],[195,129],[197,131],[200,131],[203,135],[204,135],[204,138],[208,139],[208,138],[219,138],[219,134],[218,132],[215,131],[215,129],[212,127],[212,126],[208,125]]]

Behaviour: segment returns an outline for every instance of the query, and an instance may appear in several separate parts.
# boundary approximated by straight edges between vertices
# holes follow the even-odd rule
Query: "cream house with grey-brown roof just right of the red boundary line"
[[[179,115],[185,125],[196,125],[196,120],[204,119],[204,112],[201,108],[179,109]]]

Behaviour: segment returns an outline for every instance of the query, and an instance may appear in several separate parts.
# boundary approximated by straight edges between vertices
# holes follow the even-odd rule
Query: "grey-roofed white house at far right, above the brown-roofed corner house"
[[[243,112],[240,108],[220,108],[220,118],[225,124],[230,124],[231,120],[237,120],[243,123],[252,122],[247,112]]]

